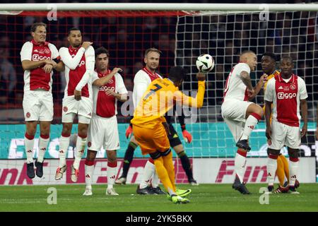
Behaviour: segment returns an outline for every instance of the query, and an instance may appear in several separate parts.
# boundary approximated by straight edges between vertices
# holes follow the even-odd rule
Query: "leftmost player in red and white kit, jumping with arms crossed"
[[[34,136],[40,121],[39,153],[35,161],[37,177],[43,175],[43,160],[49,143],[49,127],[53,119],[52,69],[64,71],[59,52],[46,42],[47,25],[35,23],[31,27],[33,40],[25,42],[20,52],[24,70],[23,112],[25,117],[25,153],[27,174],[35,177],[33,165]]]

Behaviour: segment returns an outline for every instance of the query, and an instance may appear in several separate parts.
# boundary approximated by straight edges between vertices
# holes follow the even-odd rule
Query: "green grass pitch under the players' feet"
[[[162,186],[162,185],[161,185]],[[174,204],[166,196],[137,195],[136,185],[114,186],[119,196],[106,196],[106,185],[93,185],[93,196],[82,196],[85,185],[1,186],[0,211],[106,211],[106,212],[210,212],[210,211],[318,211],[318,183],[300,184],[300,194],[271,194],[261,205],[259,189],[266,184],[247,184],[252,195],[234,191],[230,184],[177,185],[192,189],[190,203]],[[57,204],[49,205],[49,187],[57,189]]]

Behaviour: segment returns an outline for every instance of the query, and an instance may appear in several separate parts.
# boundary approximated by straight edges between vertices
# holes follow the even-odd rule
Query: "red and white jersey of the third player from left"
[[[99,73],[94,71],[91,83],[93,84],[98,78],[107,76],[111,71],[107,73]],[[93,85],[93,112],[100,117],[109,118],[117,114],[117,99],[112,95],[107,95],[105,91],[112,89],[115,93],[127,94],[128,91],[122,80],[122,76],[119,73],[115,73],[107,84],[102,86]]]

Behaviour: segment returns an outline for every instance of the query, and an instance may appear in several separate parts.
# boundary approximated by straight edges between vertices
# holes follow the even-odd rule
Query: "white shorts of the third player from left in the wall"
[[[105,150],[118,150],[119,134],[117,117],[99,117],[94,114],[88,126],[88,150],[98,151],[100,148]]]

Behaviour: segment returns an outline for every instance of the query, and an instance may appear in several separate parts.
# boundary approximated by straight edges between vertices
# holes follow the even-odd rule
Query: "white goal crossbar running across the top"
[[[0,11],[318,11],[318,4],[0,4]]]

